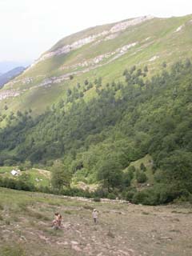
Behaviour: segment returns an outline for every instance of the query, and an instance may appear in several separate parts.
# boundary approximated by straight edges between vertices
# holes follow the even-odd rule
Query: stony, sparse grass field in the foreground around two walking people
[[[55,211],[63,216],[60,230],[50,227]],[[191,214],[190,206],[89,202],[0,188],[0,255],[191,255]]]

